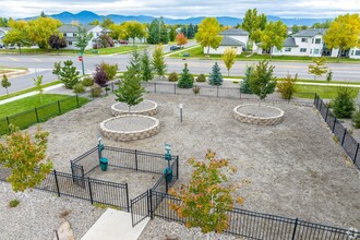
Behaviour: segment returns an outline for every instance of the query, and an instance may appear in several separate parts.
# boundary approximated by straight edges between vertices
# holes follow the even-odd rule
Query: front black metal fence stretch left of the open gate
[[[9,169],[0,168],[0,180],[5,181]],[[81,182],[81,184],[79,184]],[[83,178],[60,171],[51,171],[35,189],[71,196],[107,206],[130,211],[128,183],[115,183],[92,178]]]

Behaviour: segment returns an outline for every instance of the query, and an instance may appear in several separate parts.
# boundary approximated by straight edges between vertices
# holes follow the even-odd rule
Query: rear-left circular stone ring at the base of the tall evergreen
[[[157,113],[157,104],[152,100],[143,100],[139,105],[132,106],[129,111],[129,106],[124,103],[118,103],[111,106],[112,116],[121,115],[146,115],[154,116]]]

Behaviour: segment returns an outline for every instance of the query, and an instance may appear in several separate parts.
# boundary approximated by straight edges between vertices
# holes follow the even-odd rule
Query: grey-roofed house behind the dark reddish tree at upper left
[[[87,26],[81,26],[84,27],[87,32],[87,34],[92,34],[93,37],[92,39],[87,43],[87,46],[85,49],[92,49],[94,46],[99,45],[99,37],[103,34],[108,34],[111,31],[101,27],[101,26],[93,26],[93,25],[87,25]],[[60,33],[65,38],[67,41],[67,49],[76,49],[76,44],[77,44],[77,37],[79,37],[79,26],[73,26],[73,25],[62,25],[58,28]]]

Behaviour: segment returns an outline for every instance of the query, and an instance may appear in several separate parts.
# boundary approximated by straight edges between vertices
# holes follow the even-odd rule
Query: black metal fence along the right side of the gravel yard
[[[315,94],[314,105],[320,111],[324,121],[327,123],[328,128],[332,130],[334,135],[338,139],[343,148],[353,161],[353,164],[360,169],[360,153],[359,153],[359,142],[353,139],[353,136],[347,131],[347,129],[341,124],[341,122],[335,117],[327,105]]]

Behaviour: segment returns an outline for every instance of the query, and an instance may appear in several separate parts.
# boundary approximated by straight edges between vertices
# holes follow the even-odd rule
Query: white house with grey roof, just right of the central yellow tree
[[[249,33],[240,28],[230,28],[223,31],[219,34],[223,39],[220,46],[217,49],[209,48],[211,55],[223,55],[226,48],[236,48],[237,55],[241,55],[243,49],[247,49],[249,40]],[[203,49],[204,53],[207,53],[207,47]]]

